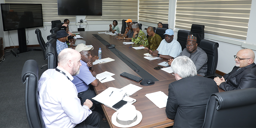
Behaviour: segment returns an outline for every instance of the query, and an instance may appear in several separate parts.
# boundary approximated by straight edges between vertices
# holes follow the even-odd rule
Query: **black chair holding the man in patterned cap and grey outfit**
[[[218,64],[218,47],[219,44],[210,40],[201,40],[200,48],[203,49],[208,57],[207,75],[204,77],[214,78]]]

